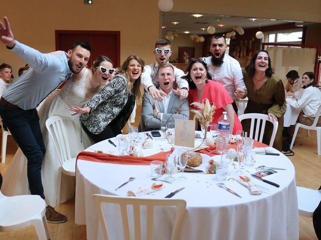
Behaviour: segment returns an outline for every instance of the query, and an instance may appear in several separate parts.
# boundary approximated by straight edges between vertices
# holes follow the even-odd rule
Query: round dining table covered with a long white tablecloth
[[[150,132],[149,132],[150,133]],[[142,137],[144,133],[139,133]],[[143,134],[143,135],[142,135]],[[111,138],[118,144],[117,139]],[[161,138],[153,137],[153,147],[143,149],[137,147],[144,156],[160,151],[171,150],[172,145]],[[298,208],[296,196],[295,170],[291,161],[278,150],[267,147],[270,152],[279,155],[256,154],[254,166],[245,166],[244,174],[262,189],[259,195],[251,194],[250,190],[239,182],[218,181],[216,174],[205,172],[184,172],[187,180],[179,180],[177,172],[172,183],[164,183],[164,188],[152,194],[142,194],[143,198],[164,198],[169,193],[185,187],[172,198],[185,199],[187,208],[183,218],[180,238],[194,239],[298,239]],[[86,151],[102,151],[118,154],[117,147],[108,140],[98,142]],[[220,161],[220,155],[212,157],[203,155],[203,161],[214,159]],[[238,178],[235,173],[235,163],[229,165],[227,178]],[[275,173],[263,177],[279,184],[279,187],[267,184],[250,176],[246,170],[252,171],[259,165],[279,167],[285,170],[276,170]],[[237,163],[236,163],[237,166]],[[167,174],[159,179],[164,179]],[[115,190],[129,177],[135,180]],[[239,178],[238,178],[239,179]],[[78,158],[76,164],[76,197],[75,197],[75,223],[86,224],[87,239],[103,239],[99,225],[98,215],[92,195],[95,193],[126,196],[128,190],[136,190],[152,184],[149,165],[114,164],[108,161],[89,161]],[[217,183],[223,182],[241,197],[219,187]],[[105,207],[104,215],[107,228],[110,230],[110,239],[122,239],[121,221],[117,215],[116,207]],[[154,221],[153,239],[170,239],[171,227],[174,219],[172,211],[161,211]]]

